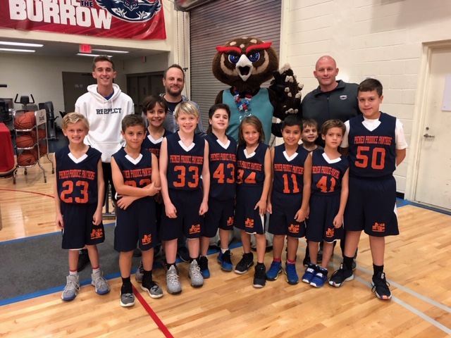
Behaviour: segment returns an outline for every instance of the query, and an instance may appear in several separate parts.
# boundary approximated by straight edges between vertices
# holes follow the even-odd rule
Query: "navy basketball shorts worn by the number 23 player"
[[[97,204],[68,204],[61,201],[63,214],[63,249],[82,249],[85,245],[103,243],[104,223],[92,224]]]

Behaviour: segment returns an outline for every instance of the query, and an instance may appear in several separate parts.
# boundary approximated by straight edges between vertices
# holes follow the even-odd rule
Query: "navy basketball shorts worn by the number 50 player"
[[[369,180],[350,176],[345,210],[345,229],[370,236],[400,234],[396,211],[396,181],[391,176]]]

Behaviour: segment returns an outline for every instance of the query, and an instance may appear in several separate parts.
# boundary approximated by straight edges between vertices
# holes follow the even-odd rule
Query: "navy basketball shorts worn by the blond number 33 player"
[[[169,189],[169,198],[175,209],[177,209],[177,218],[168,218],[163,207],[160,239],[162,241],[171,241],[182,234],[187,239],[199,238],[204,227],[204,216],[199,215],[200,205],[204,198],[202,189]]]

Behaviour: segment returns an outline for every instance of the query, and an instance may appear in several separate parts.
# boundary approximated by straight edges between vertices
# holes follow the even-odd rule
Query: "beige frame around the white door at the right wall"
[[[420,56],[420,69],[415,93],[414,117],[412,123],[412,135],[409,144],[409,165],[407,166],[406,189],[404,198],[409,201],[417,201],[416,184],[418,182],[419,161],[421,155],[421,140],[423,138],[424,121],[426,119],[427,93],[429,77],[431,75],[431,57],[435,49],[451,48],[451,40],[438,42],[424,42]],[[425,204],[421,202],[421,204]],[[425,204],[428,205],[428,204]],[[440,208],[438,206],[432,206]]]

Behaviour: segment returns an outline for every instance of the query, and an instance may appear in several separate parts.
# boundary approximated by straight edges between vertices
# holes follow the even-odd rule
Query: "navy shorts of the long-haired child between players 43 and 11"
[[[237,205],[235,207],[235,227],[245,230],[248,234],[264,234],[266,213],[259,214],[259,209],[254,210],[261,197],[263,186],[237,187]]]

